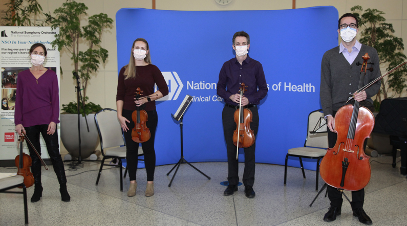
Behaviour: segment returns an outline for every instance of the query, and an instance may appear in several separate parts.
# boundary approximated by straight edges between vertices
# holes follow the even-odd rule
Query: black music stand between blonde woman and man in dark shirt
[[[181,157],[180,157],[180,160],[178,161],[178,163],[175,164],[175,166],[167,173],[167,176],[168,176],[168,175],[175,169],[175,167],[177,167],[177,169],[175,170],[175,173],[174,173],[174,175],[173,175],[173,178],[171,179],[171,181],[170,181],[169,184],[168,184],[168,187],[171,187],[171,184],[173,183],[174,177],[175,177],[175,175],[177,174],[178,168],[180,168],[181,163],[186,163],[186,164],[188,164],[189,166],[191,166],[192,168],[194,168],[195,170],[197,170],[198,172],[200,172],[202,175],[204,175],[204,176],[206,176],[208,179],[210,179],[209,176],[207,176],[205,173],[201,172],[201,171],[200,171],[198,168],[196,168],[195,166],[192,166],[190,163],[188,163],[188,161],[186,161],[186,160],[184,159],[183,136],[182,136],[182,124],[183,124],[183,123],[182,123],[182,120],[183,120],[183,118],[184,118],[184,115],[183,115],[183,114],[184,114],[186,108],[189,106],[189,104],[190,104],[190,102],[191,102],[191,99],[192,99],[191,96],[189,96],[190,99],[188,99],[188,96],[189,96],[189,95],[187,95],[187,96],[185,97],[184,101],[181,103],[181,106],[179,107],[178,111],[176,112],[176,116],[174,116],[173,114],[171,114],[175,120],[179,120],[179,121],[180,121],[180,129],[181,129]],[[181,112],[180,112],[180,111],[181,111]],[[180,117],[180,116],[181,116],[181,117]]]

